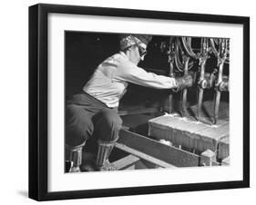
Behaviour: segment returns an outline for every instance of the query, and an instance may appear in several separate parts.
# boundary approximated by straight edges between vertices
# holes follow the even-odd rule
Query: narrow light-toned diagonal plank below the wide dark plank
[[[165,162],[165,161],[161,161],[159,159],[156,159],[154,157],[151,157],[150,155],[146,154],[146,153],[143,153],[141,151],[137,151],[137,150],[134,150],[124,144],[121,144],[121,143],[116,143],[115,145],[116,148],[118,148],[119,150],[122,150],[122,151],[126,151],[132,155],[135,155],[137,156],[138,158],[140,159],[143,159],[145,161],[149,161],[153,164],[156,164],[158,165],[159,167],[162,167],[162,168],[175,168],[175,166]]]

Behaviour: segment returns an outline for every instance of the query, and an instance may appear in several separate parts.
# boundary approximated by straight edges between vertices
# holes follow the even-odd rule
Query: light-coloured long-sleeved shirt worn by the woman
[[[174,78],[148,73],[137,64],[130,62],[126,54],[119,52],[97,66],[83,90],[113,108],[118,107],[119,100],[126,93],[128,83],[156,89],[177,87]]]

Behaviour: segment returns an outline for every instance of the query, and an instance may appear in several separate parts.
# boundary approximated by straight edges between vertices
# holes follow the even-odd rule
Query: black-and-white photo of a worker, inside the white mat
[[[230,39],[65,32],[66,172],[230,164]]]

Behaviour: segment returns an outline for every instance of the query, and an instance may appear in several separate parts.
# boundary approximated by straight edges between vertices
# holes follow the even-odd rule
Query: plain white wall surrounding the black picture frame
[[[172,12],[189,12],[215,15],[246,15],[251,16],[251,189],[239,190],[211,190],[198,192],[181,192],[170,194],[154,194],[146,196],[115,197],[89,200],[65,200],[50,203],[55,204],[216,204],[216,203],[244,203],[252,200],[255,192],[255,95],[252,94],[255,80],[252,82],[255,70],[255,9],[253,1],[223,1],[205,0],[194,1],[42,1],[41,3],[66,5],[92,5],[133,9],[162,10]],[[0,38],[0,132],[1,169],[0,169],[0,201],[1,204],[34,204],[34,200],[27,199],[27,158],[28,158],[28,5],[38,1],[3,1],[1,3],[1,38]]]

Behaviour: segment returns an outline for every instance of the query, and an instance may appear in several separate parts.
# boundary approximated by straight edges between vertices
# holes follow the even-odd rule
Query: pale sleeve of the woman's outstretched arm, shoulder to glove
[[[138,67],[134,63],[128,61],[118,64],[118,72],[116,78],[128,83],[152,87],[157,89],[172,89],[177,87],[176,80],[164,75],[149,73]]]

